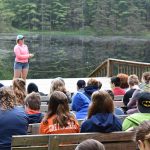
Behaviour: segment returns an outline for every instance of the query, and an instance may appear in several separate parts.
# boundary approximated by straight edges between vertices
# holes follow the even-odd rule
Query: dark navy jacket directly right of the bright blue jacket
[[[98,90],[99,90],[98,86],[86,86],[84,88],[83,94],[85,94],[89,98],[89,100],[91,100],[91,95],[93,94],[93,92]]]

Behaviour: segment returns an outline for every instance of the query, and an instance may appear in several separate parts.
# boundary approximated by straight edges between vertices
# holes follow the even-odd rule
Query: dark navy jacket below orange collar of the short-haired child
[[[27,114],[27,116],[29,118],[29,124],[31,124],[31,123],[40,123],[44,115],[42,113],[38,113],[38,114]]]

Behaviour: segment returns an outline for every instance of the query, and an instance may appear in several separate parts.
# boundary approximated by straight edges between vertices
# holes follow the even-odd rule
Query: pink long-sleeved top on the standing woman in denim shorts
[[[19,45],[17,44],[14,47],[14,53],[16,55],[15,61],[21,63],[27,63],[29,58],[29,50],[27,45]]]

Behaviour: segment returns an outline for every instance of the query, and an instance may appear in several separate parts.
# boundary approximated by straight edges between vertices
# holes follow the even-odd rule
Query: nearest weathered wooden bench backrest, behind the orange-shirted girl
[[[18,135],[12,137],[12,150],[74,150],[86,139],[96,139],[106,150],[136,150],[134,132]]]

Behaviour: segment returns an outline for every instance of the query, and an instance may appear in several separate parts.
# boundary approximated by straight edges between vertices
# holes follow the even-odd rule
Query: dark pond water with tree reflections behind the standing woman
[[[150,62],[150,40],[136,37],[25,35],[35,57],[29,78],[86,77],[107,58]],[[16,35],[0,35],[1,75],[13,74]],[[4,67],[5,66],[5,67]],[[3,76],[3,75],[2,75]]]

